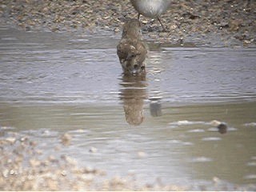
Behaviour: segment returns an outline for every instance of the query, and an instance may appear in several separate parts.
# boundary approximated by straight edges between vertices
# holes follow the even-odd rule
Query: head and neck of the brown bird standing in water
[[[122,38],[141,38],[141,23],[137,19],[129,19],[123,26]]]

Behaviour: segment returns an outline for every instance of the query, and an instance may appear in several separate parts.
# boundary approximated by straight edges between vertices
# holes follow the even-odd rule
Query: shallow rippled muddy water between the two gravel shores
[[[68,132],[58,153],[110,177],[199,190],[256,183],[256,50],[148,42],[146,78],[127,78],[118,38],[2,26],[2,128],[49,154]]]

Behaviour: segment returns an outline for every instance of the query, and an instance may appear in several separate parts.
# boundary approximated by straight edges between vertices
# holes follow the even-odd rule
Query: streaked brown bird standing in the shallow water
[[[129,19],[122,30],[122,39],[117,46],[117,54],[124,74],[145,73],[146,45],[141,39],[141,23]]]

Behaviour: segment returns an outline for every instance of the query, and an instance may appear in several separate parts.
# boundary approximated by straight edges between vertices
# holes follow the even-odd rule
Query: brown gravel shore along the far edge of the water
[[[129,0],[2,0],[0,21],[24,30],[121,33],[126,18],[137,18]],[[147,40],[202,46],[255,46],[256,2],[242,0],[174,1],[162,22],[141,17]]]

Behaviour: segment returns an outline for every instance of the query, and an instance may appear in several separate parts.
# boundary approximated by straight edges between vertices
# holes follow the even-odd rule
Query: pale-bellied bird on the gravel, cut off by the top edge
[[[138,19],[140,14],[147,18],[158,18],[162,29],[166,31],[160,20],[160,15],[169,8],[170,0],[130,0],[130,2],[138,11]]]

